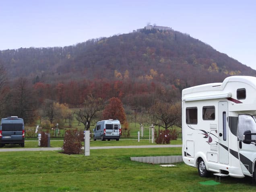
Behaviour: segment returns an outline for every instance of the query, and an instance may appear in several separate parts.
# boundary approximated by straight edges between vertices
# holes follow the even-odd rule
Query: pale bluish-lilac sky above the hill
[[[0,50],[171,27],[256,69],[255,0],[1,0]]]

